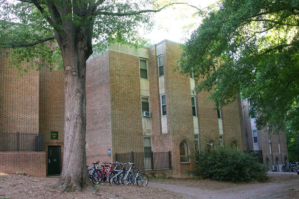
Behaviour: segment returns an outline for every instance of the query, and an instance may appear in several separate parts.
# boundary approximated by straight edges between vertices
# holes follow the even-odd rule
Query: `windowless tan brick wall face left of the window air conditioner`
[[[139,57],[109,51],[112,153],[143,152]]]

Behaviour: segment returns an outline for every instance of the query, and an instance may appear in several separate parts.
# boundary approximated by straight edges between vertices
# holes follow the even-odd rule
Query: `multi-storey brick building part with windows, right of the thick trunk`
[[[180,55],[180,44],[164,40],[138,50],[113,45],[87,61],[88,164],[115,161],[116,153],[170,151],[173,173],[186,176],[196,149],[243,150],[240,98],[214,109],[207,92],[195,94],[194,80],[174,71]]]

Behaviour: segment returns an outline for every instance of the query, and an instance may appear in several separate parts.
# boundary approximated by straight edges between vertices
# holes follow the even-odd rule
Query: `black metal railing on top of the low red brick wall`
[[[44,134],[0,133],[0,151],[45,151]]]

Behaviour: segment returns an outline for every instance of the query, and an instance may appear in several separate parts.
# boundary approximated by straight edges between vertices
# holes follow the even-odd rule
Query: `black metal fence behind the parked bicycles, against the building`
[[[127,152],[116,153],[115,161],[133,162],[141,170],[171,169],[171,152]]]

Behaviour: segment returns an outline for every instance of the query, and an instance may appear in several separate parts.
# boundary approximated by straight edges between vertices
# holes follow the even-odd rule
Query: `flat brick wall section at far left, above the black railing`
[[[0,55],[0,133],[38,133],[38,72],[29,70],[17,78],[17,70],[7,68],[8,61]]]

